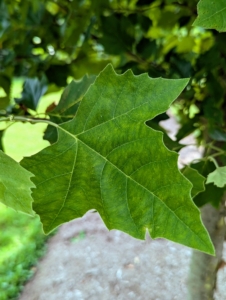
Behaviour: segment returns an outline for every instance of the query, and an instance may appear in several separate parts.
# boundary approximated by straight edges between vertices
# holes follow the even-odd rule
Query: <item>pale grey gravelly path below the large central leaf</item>
[[[191,250],[108,231],[97,213],[64,224],[20,300],[186,299]]]

